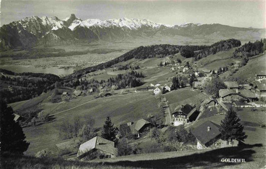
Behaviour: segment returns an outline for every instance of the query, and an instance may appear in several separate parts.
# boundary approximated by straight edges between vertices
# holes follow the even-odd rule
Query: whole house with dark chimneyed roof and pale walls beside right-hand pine
[[[197,149],[219,149],[224,147],[235,147],[238,146],[238,140],[228,142],[221,139],[221,126],[211,121],[206,121],[199,127],[192,130],[192,134],[197,140]]]

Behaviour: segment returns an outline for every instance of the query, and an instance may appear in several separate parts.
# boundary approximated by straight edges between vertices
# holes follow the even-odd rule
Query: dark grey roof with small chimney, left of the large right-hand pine
[[[210,131],[207,130],[208,127],[210,127]],[[206,143],[217,138],[217,136],[221,134],[219,131],[220,127],[221,126],[216,123],[206,121],[191,132],[202,144],[206,145]]]

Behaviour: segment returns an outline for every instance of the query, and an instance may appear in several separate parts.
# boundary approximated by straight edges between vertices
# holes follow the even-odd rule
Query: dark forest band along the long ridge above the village
[[[195,45],[182,46],[182,45],[169,45],[169,44],[151,45],[145,47],[140,46],[108,62],[76,71],[72,75],[67,76],[66,79],[70,79],[73,77],[78,78],[84,74],[95,72],[97,70],[103,70],[111,67],[114,64],[127,61],[133,58],[136,59],[163,58],[168,55],[173,55],[180,52],[181,56],[183,57],[186,58],[196,57],[196,59],[200,59],[208,55],[215,54],[216,52],[229,50],[230,48],[237,47],[240,45],[241,42],[239,40],[228,39],[214,43],[211,46],[195,46]]]

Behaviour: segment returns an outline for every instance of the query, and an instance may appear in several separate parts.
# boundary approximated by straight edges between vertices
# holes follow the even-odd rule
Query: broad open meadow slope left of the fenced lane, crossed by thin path
[[[66,103],[47,103],[42,108],[44,111],[49,112],[51,107],[55,107],[52,112],[54,113],[74,107],[84,103],[84,100],[92,98],[92,96],[81,96]],[[151,95],[151,92],[95,99],[82,106],[54,115],[53,118],[55,119],[50,123],[23,128],[26,139],[30,142],[26,154],[34,154],[45,148],[55,151],[55,144],[63,142],[58,137],[58,127],[63,119],[71,121],[73,116],[90,115],[95,119],[95,127],[99,128],[104,124],[106,116],[110,116],[112,122],[118,125],[130,120],[135,121],[140,118],[146,118],[149,113],[160,113],[157,107],[157,100],[154,95]]]

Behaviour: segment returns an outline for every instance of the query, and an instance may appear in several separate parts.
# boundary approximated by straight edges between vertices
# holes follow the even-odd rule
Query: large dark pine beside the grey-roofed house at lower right
[[[248,137],[243,132],[244,126],[240,123],[240,118],[232,107],[227,112],[225,119],[221,121],[221,127],[222,140],[230,142],[234,139],[244,141]]]

